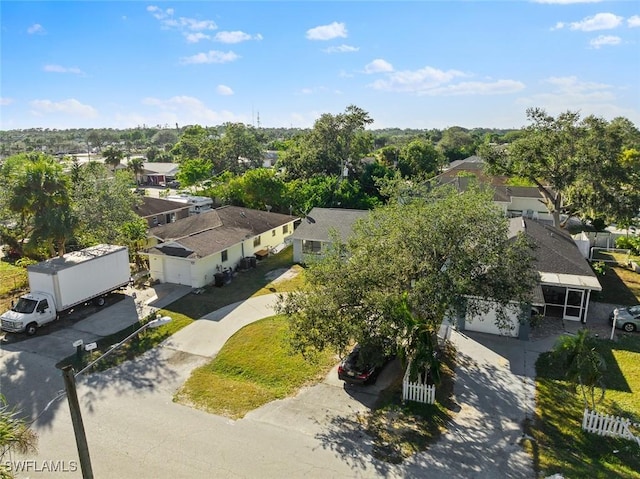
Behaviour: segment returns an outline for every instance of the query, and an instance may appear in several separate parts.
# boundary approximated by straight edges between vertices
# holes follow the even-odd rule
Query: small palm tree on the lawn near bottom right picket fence
[[[588,330],[581,329],[574,336],[561,336],[551,354],[552,364],[580,389],[585,406],[592,410],[604,399],[606,391],[607,364],[598,353],[597,341]],[[596,396],[598,390],[600,395]]]

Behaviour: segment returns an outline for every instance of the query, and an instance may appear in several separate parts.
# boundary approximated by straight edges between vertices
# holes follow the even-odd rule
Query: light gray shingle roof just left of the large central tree
[[[313,208],[300,226],[291,235],[292,239],[312,241],[329,241],[329,232],[335,230],[345,241],[353,228],[353,224],[369,214],[366,210],[350,210],[344,208]]]

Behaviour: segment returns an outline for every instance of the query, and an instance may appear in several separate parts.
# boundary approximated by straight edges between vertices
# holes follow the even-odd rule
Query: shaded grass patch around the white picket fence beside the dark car
[[[456,408],[453,385],[456,351],[450,344],[443,354],[441,384],[435,404],[402,403],[402,376],[387,388],[376,407],[360,417],[373,438],[377,459],[399,464],[415,453],[428,449],[447,429]]]

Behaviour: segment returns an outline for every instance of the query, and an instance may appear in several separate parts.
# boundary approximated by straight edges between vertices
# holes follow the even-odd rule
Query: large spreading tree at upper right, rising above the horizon
[[[579,113],[571,111],[554,118],[539,108],[528,109],[527,118],[532,124],[506,148],[482,147],[480,154],[490,171],[532,181],[556,226],[564,226],[563,212],[616,216],[616,206],[637,190],[619,189],[621,182],[628,183],[619,170],[625,137],[617,128],[622,122],[612,127],[592,116],[580,120]]]

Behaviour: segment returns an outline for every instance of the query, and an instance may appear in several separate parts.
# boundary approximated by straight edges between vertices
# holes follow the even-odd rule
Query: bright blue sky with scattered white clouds
[[[0,129],[640,126],[637,1],[0,2]]]

